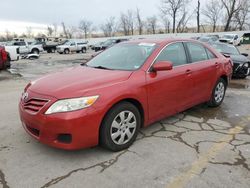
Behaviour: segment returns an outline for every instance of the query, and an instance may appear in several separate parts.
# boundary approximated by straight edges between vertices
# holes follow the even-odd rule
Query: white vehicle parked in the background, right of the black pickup
[[[67,41],[63,45],[57,46],[56,50],[59,54],[69,54],[70,52],[86,53],[88,49],[87,42],[83,41]]]

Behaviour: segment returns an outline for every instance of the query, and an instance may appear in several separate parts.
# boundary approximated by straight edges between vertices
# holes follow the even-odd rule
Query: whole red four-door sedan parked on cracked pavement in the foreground
[[[119,151],[141,127],[200,103],[219,106],[231,74],[230,59],[197,41],[125,42],[29,83],[20,117],[44,144]]]

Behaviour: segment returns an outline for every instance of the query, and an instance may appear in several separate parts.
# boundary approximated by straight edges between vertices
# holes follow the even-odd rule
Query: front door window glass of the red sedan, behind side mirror
[[[187,64],[184,46],[181,42],[170,44],[157,57],[157,61],[171,61],[173,66]]]

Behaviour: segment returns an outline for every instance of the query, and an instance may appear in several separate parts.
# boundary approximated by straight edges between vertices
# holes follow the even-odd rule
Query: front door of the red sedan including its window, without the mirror
[[[154,63],[160,61],[171,61],[173,69],[146,74],[150,121],[182,111],[192,100],[192,74],[183,43],[167,45]]]

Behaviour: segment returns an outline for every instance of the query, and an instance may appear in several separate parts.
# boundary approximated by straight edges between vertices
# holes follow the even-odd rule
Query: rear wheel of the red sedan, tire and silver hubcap
[[[210,101],[208,102],[208,105],[210,107],[220,106],[224,100],[226,89],[227,89],[226,81],[220,78],[214,86],[212,96],[211,96]]]

